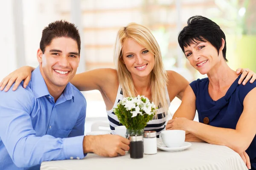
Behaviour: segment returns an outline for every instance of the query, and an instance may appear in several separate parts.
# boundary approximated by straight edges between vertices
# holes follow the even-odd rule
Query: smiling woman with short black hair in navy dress
[[[225,34],[208,18],[189,18],[178,41],[189,63],[208,78],[190,83],[166,129],[248,154],[247,167],[256,170],[256,82],[238,84],[240,76],[226,62]],[[192,121],[196,110],[199,122]]]

